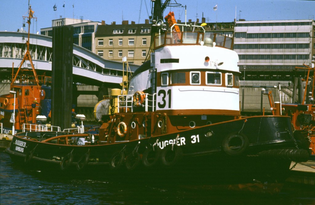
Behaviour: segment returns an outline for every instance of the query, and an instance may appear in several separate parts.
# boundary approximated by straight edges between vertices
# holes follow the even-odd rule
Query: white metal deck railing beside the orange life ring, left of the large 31
[[[155,111],[155,98],[156,98],[156,93],[153,95],[144,93],[142,94],[143,96],[146,96],[143,99],[143,103],[140,104],[139,107],[145,108],[145,111]],[[133,109],[135,107],[133,103],[133,96],[132,94],[130,95],[119,95],[118,96],[118,113],[119,112],[133,112]]]

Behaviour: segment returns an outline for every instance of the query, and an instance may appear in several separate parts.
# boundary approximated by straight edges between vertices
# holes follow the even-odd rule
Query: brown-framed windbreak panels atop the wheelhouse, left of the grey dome
[[[154,48],[166,45],[200,45],[203,32],[165,32],[154,37]]]

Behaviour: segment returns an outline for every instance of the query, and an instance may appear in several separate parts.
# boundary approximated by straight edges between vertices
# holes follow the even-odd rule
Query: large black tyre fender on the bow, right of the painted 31
[[[238,133],[232,133],[223,139],[223,151],[228,155],[239,155],[248,147],[248,138]]]

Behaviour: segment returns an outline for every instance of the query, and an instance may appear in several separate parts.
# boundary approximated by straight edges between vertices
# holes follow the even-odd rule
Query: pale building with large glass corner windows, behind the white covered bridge
[[[105,24],[105,22],[102,22]],[[84,20],[84,19],[71,19],[61,18],[52,20],[52,27],[42,28],[41,35],[53,35],[53,27],[61,25],[73,25],[73,43],[88,49],[95,53],[95,31],[100,22]]]

